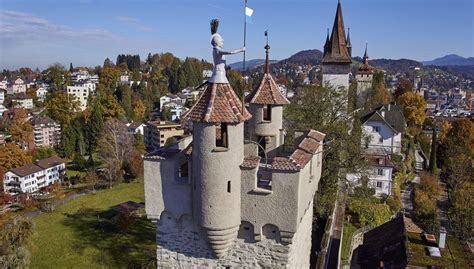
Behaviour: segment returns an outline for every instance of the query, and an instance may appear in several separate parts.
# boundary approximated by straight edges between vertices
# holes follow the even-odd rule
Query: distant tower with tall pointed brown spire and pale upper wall
[[[324,45],[322,71],[323,85],[335,89],[349,89],[349,73],[351,72],[351,55],[344,31],[341,1],[337,3],[336,17],[332,28],[331,37],[326,38]],[[350,50],[349,50],[350,49]]]

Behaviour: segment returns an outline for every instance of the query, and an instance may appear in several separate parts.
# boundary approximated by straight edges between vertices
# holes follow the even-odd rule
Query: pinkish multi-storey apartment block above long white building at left
[[[49,117],[35,116],[30,119],[35,147],[54,147],[61,139],[61,126]]]

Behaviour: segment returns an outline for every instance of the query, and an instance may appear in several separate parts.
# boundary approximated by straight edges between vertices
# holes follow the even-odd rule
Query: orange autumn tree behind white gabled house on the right
[[[426,102],[420,95],[407,92],[398,98],[398,102],[403,106],[403,114],[410,127],[421,126],[426,119]]]

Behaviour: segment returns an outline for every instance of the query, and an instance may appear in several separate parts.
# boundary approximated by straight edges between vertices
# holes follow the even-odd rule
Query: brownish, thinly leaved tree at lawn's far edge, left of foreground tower
[[[123,179],[122,167],[133,152],[133,136],[127,132],[127,127],[116,119],[107,120],[99,140],[98,153],[107,168],[110,187]]]

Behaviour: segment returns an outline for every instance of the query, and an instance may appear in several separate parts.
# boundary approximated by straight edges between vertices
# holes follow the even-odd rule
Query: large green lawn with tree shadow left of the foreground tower
[[[155,228],[145,218],[127,234],[101,231],[98,214],[126,201],[144,201],[143,182],[79,197],[33,219],[31,268],[127,268],[155,259]]]

